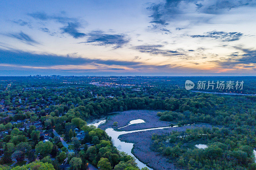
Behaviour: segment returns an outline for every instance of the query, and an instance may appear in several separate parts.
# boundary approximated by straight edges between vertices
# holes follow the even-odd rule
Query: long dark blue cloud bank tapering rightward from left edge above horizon
[[[135,66],[141,64],[133,61],[101,60],[82,57],[70,57],[69,55],[33,54],[20,50],[0,49],[0,63],[21,66],[54,66],[54,65],[82,65],[82,64],[105,64],[120,66]]]

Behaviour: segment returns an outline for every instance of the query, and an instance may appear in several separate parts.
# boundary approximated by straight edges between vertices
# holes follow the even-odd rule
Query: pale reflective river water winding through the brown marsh
[[[99,127],[99,125],[101,123],[106,122],[106,119],[98,119],[98,120],[94,120],[91,123],[88,123],[88,125],[94,125],[96,127]],[[136,123],[142,123],[144,122],[141,119],[137,119],[137,120],[132,120],[127,126],[131,125],[131,124],[136,124]],[[124,126],[126,127],[126,126]],[[114,145],[117,147],[117,149],[119,151],[124,151],[126,152],[128,155],[131,155],[134,157],[134,155],[132,154],[132,147],[133,147],[133,143],[126,143],[126,142],[122,142],[120,141],[120,139],[118,139],[118,137],[120,135],[123,134],[127,134],[127,133],[133,133],[133,132],[140,132],[140,131],[147,131],[147,130],[156,130],[156,129],[165,129],[165,128],[173,128],[173,127],[177,127],[177,126],[168,126],[168,127],[160,127],[160,128],[150,128],[150,129],[140,129],[140,130],[132,130],[132,131],[116,131],[113,128],[108,128],[105,131],[107,132],[108,136],[112,137],[112,140],[114,141]],[[122,127],[123,128],[123,127]],[[118,128],[120,129],[120,128]],[[139,168],[143,168],[143,167],[147,167],[150,170],[153,170],[152,168],[148,167],[146,164],[144,164],[143,162],[140,162],[140,160],[138,160],[137,158],[135,158],[135,162],[138,164]]]

